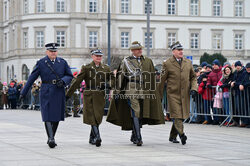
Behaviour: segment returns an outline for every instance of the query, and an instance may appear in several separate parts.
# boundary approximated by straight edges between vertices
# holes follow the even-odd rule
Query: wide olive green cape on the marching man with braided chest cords
[[[126,90],[126,79],[124,73],[121,72],[121,63],[116,75],[116,82],[123,85],[118,91],[114,91],[114,94],[124,94]],[[158,91],[156,91],[155,85],[155,68],[151,59],[142,57],[141,70],[143,71],[143,94],[145,99],[141,102],[141,122],[142,124],[157,125],[164,124],[164,115],[161,107],[161,101]],[[150,77],[151,75],[151,77]],[[153,78],[153,79],[151,79]],[[119,85],[119,83],[117,85]],[[152,90],[150,90],[152,89]],[[150,96],[150,95],[153,95]],[[127,99],[122,99],[121,96],[115,99],[113,97],[110,102],[109,111],[107,115],[107,121],[121,126],[122,130],[132,130],[133,123],[131,119],[130,107]]]

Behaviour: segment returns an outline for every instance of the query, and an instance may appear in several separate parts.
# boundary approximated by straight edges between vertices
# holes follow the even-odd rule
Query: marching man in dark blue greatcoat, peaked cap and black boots
[[[28,78],[26,85],[21,91],[20,98],[23,99],[28,93],[33,82],[40,76],[42,80],[40,90],[40,103],[42,120],[45,123],[45,129],[48,135],[47,144],[50,148],[54,148],[55,134],[59,121],[64,120],[65,111],[65,90],[73,75],[63,58],[57,57],[57,43],[48,43],[44,58],[37,61],[34,70]]]

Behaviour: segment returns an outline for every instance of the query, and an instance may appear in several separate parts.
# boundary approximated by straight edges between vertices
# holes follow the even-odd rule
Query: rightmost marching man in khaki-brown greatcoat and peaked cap
[[[183,47],[179,42],[170,46],[173,56],[163,62],[159,90],[163,96],[165,82],[167,81],[167,99],[170,117],[173,119],[169,141],[179,143],[177,135],[183,145],[187,136],[184,133],[183,120],[189,118],[190,94],[196,96],[196,74],[190,60],[183,57]]]

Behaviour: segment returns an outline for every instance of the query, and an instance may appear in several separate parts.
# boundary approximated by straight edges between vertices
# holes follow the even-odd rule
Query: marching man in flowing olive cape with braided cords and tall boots
[[[143,124],[164,124],[156,73],[151,59],[142,55],[143,46],[135,41],[131,56],[123,59],[117,70],[117,91],[111,100],[107,121],[122,130],[132,130],[130,141],[141,146]]]

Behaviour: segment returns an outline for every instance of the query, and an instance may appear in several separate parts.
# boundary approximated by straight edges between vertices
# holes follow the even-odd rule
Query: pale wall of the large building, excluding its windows
[[[56,41],[56,29],[66,32],[66,46],[59,49],[59,56],[65,58],[71,67],[80,69],[81,65],[91,61],[89,31],[98,31],[98,46],[107,53],[107,7],[108,0],[98,0],[97,13],[89,13],[89,0],[66,0],[66,11],[57,13],[56,0],[45,0],[45,12],[36,13],[36,0],[28,0],[28,14],[24,13],[24,0],[0,0],[0,9],[7,2],[7,20],[4,10],[0,10],[0,78],[7,80],[7,67],[14,67],[14,75],[21,80],[24,64],[32,71],[37,60],[45,56],[45,48],[36,48],[35,31],[44,29],[45,41]],[[127,56],[128,48],[121,48],[121,32],[128,31],[129,43],[138,40],[144,44],[146,32],[146,14],[144,0],[130,0],[129,13],[121,13],[121,0],[111,0],[111,55]],[[153,48],[150,57],[155,64],[171,56],[168,49],[168,32],[177,32],[185,50],[184,54],[193,56],[193,63],[199,64],[204,52],[210,54],[221,52],[229,62],[250,60],[250,1],[244,0],[243,17],[234,17],[235,0],[222,0],[222,16],[212,16],[212,0],[200,0],[199,15],[190,16],[190,0],[177,0],[177,14],[168,15],[166,0],[153,0],[151,15],[151,31],[153,32]],[[28,32],[28,48],[24,48],[23,32]],[[214,50],[212,35],[222,34],[222,49]],[[190,47],[190,33],[199,32],[199,49]],[[234,49],[234,34],[244,34],[244,47],[240,51]],[[7,42],[5,43],[5,35]],[[144,51],[146,54],[146,50]],[[9,78],[10,79],[10,78]]]

